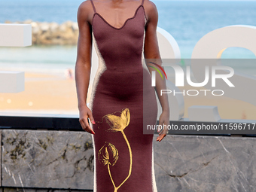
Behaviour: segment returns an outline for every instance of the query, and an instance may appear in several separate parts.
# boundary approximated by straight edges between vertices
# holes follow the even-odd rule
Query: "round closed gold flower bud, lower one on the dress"
[[[105,145],[100,148],[98,153],[99,162],[104,166],[110,164],[114,166],[117,163],[118,159],[118,151],[117,148],[114,147],[110,142],[105,142]]]

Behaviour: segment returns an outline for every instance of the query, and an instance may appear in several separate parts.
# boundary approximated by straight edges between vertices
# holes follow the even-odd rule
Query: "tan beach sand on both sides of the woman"
[[[184,87],[184,90],[195,87]],[[88,93],[87,102],[90,99]],[[256,120],[256,107],[224,96],[184,96],[184,117],[192,105],[216,105],[223,119]],[[1,112],[78,114],[75,80],[63,74],[26,72],[25,91],[0,93]]]

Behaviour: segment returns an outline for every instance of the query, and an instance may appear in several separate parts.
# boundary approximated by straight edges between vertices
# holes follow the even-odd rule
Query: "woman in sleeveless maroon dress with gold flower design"
[[[162,106],[159,123],[169,124],[168,99],[160,96],[165,80],[156,75],[154,90],[154,68],[147,67],[161,65],[157,20],[157,8],[149,0],[87,0],[78,8],[75,79],[79,121],[93,137],[94,192],[157,191],[154,130],[143,132],[157,121],[155,90]],[[99,68],[87,106],[92,41]],[[143,55],[151,62],[143,62]],[[166,134],[162,130],[157,141]]]

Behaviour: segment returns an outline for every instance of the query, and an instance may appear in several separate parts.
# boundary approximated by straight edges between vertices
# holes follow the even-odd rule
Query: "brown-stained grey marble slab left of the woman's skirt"
[[[90,190],[93,157],[87,133],[2,130],[2,186]]]

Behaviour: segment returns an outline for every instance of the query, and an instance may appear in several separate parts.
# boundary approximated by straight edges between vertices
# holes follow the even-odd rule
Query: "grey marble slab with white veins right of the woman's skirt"
[[[191,192],[255,191],[254,151],[256,138],[166,136],[162,142],[154,142],[157,188]]]

